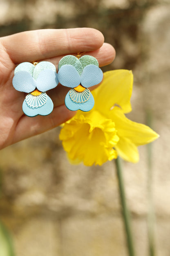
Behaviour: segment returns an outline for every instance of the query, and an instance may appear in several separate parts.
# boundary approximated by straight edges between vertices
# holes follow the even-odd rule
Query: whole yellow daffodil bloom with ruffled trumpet
[[[95,105],[89,112],[78,111],[60,132],[63,148],[72,162],[102,165],[119,155],[129,162],[138,162],[137,146],[159,137],[151,128],[125,117],[132,110],[132,71],[115,70],[104,73],[95,89]]]

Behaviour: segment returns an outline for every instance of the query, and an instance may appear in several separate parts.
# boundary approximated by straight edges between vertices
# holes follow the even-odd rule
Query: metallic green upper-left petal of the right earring
[[[58,70],[60,70],[60,68],[64,65],[74,66],[74,68],[76,69],[76,71],[78,72],[79,75],[81,75],[81,73],[83,71],[83,66],[82,66],[81,62],[74,55],[66,55],[62,59],[60,59],[60,61],[58,63]]]

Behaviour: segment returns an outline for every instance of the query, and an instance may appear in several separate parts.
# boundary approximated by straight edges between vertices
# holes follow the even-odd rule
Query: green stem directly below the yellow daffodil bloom
[[[130,224],[130,213],[129,213],[129,210],[128,210],[128,207],[126,204],[126,198],[125,198],[125,189],[124,189],[124,182],[123,182],[123,176],[122,176],[121,159],[118,157],[115,160],[115,162],[116,162],[117,177],[118,177],[118,181],[119,181],[119,194],[120,194],[120,200],[121,200],[121,206],[122,206],[122,215],[123,215],[123,220],[124,220],[124,225],[125,225],[128,252],[129,252],[129,256],[135,256],[133,240],[132,240],[131,224]]]

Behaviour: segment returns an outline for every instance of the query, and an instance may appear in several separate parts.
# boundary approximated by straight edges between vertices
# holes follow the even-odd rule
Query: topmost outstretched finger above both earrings
[[[26,31],[0,40],[12,61],[18,64],[95,51],[103,45],[104,37],[93,28],[73,28]]]

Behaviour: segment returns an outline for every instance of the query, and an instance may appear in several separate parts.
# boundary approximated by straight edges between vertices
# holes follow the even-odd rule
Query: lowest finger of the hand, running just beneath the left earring
[[[48,116],[27,117],[23,115],[18,121],[11,144],[51,130],[72,118],[74,114],[76,114],[75,111],[70,111],[65,105],[60,105],[55,107]]]

